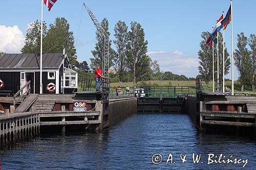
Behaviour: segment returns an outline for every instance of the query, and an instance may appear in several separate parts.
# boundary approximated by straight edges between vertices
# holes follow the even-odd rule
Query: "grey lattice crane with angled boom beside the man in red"
[[[109,78],[109,60],[110,60],[110,37],[108,33],[101,26],[97,18],[94,16],[93,12],[89,9],[89,7],[83,3],[83,6],[86,8],[88,14],[90,15],[94,26],[97,29],[97,32],[100,35],[100,38],[103,40],[103,48],[102,48],[102,73],[105,78]]]

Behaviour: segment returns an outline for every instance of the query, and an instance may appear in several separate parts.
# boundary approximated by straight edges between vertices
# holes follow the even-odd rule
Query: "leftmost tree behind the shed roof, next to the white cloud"
[[[42,29],[42,52],[46,51],[45,38],[47,34],[46,22],[43,22]],[[41,44],[41,22],[38,20],[30,24],[30,28],[27,30],[25,45],[22,48],[22,53],[35,53],[40,54],[40,44]]]

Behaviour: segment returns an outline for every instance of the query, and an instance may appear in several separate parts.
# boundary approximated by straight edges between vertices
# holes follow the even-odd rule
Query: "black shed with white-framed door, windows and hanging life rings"
[[[42,93],[72,93],[77,91],[77,79],[67,55],[42,55]],[[39,93],[40,54],[0,55],[0,95],[16,93],[28,81],[31,81],[31,93]]]

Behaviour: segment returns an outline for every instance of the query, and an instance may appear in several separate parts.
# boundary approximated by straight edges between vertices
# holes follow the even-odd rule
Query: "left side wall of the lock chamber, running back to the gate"
[[[126,117],[137,114],[137,99],[115,99],[109,103],[109,124],[120,122]]]

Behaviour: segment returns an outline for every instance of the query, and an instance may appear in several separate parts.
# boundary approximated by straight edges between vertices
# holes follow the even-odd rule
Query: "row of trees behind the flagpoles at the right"
[[[209,81],[212,80],[212,48],[207,44],[207,38],[209,37],[209,32],[203,32],[201,34],[202,40],[200,42],[200,50],[198,52],[199,58],[199,76],[206,82],[208,86]],[[237,35],[237,49],[234,51],[234,65],[237,66],[239,72],[238,82],[241,86],[241,91],[245,87],[255,90],[256,80],[256,37],[254,34],[250,34],[247,38],[244,33]],[[247,47],[250,47],[248,50]],[[225,75],[229,73],[230,59],[225,47],[225,63],[223,64],[223,38],[222,34],[219,33],[219,78],[222,79],[223,76],[223,65],[225,68]],[[217,44],[214,44],[214,65],[215,65],[215,80],[217,79]]]

